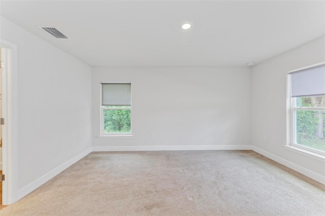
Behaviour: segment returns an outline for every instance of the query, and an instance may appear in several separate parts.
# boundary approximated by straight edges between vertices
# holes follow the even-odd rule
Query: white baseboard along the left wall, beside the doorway
[[[17,200],[15,200],[15,201],[20,200],[21,198],[23,198],[30,192],[34,191],[35,189],[37,189],[38,187],[40,187],[41,185],[43,185],[44,183],[49,181],[51,178],[53,178],[55,175],[59,174],[64,169],[67,169],[69,166],[71,166],[72,164],[76,163],[77,161],[79,161],[80,159],[82,159],[83,157],[85,157],[86,155],[91,153],[91,151],[92,151],[91,148],[87,149],[86,151],[80,153],[76,157],[70,159],[69,161],[67,161],[67,162],[61,164],[60,166],[56,167],[55,169],[49,171],[45,175],[39,177],[38,179],[36,179],[34,182],[30,183],[29,185],[19,189],[18,195],[17,195]]]

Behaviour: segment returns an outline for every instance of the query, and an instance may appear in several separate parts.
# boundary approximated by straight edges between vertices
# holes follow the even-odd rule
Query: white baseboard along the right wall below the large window
[[[314,171],[312,171],[310,169],[302,167],[302,166],[300,166],[300,165],[298,165],[296,163],[293,163],[291,161],[280,158],[280,157],[278,157],[276,155],[273,155],[273,154],[271,154],[271,153],[269,153],[267,151],[264,151],[262,149],[259,149],[257,147],[251,146],[251,150],[253,150],[254,152],[257,152],[258,154],[261,154],[261,155],[263,155],[263,156],[265,156],[267,158],[270,158],[271,160],[274,160],[274,161],[276,161],[276,162],[278,162],[278,163],[280,163],[280,164],[282,164],[282,165],[284,165],[286,167],[289,167],[290,169],[293,169],[293,170],[295,170],[295,171],[297,171],[297,172],[299,172],[299,173],[301,173],[303,175],[306,175],[306,176],[314,179],[315,181],[325,185],[325,176],[323,176],[323,175],[321,175],[321,174],[319,174],[317,172],[314,172]]]

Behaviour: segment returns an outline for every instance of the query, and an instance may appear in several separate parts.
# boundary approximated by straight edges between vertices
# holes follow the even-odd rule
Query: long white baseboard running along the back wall
[[[97,146],[93,152],[116,151],[184,151],[184,150],[251,150],[250,145],[222,145],[222,146]]]

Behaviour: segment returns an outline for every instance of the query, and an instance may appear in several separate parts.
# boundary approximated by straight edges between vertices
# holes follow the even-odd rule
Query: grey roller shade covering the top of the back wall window
[[[102,105],[131,105],[131,83],[102,83]]]

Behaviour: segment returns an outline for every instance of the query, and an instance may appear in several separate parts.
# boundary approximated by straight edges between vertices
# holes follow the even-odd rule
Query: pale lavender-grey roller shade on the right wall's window
[[[290,73],[291,97],[325,95],[325,65]]]

